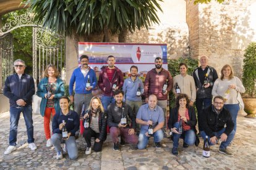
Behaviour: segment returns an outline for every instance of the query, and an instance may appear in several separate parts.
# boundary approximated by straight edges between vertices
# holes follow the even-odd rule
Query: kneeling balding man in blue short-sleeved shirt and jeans
[[[160,142],[163,139],[162,128],[164,126],[164,113],[161,107],[156,105],[157,98],[156,95],[151,94],[148,97],[148,103],[142,105],[137,113],[136,122],[141,124],[140,134],[139,134],[139,149],[144,149],[147,147],[148,139],[150,135],[148,134],[148,127],[152,126],[154,137],[154,142],[156,148],[161,148]]]

